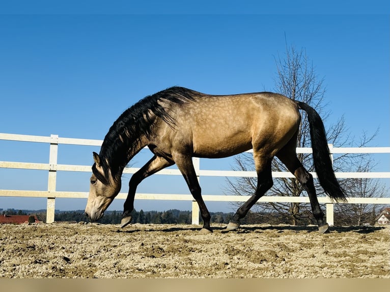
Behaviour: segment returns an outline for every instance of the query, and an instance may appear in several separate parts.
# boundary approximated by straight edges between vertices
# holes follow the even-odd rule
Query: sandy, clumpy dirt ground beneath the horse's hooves
[[[390,278],[390,227],[0,225],[2,278]]]

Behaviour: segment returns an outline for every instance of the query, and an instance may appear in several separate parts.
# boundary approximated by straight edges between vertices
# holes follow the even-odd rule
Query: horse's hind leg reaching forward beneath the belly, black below
[[[257,171],[257,188],[255,194],[252,195],[243,205],[237,210],[233,218],[230,220],[227,229],[234,230],[240,226],[240,219],[244,218],[250,208],[268,191],[272,185],[272,158],[265,159],[254,153],[255,166]]]

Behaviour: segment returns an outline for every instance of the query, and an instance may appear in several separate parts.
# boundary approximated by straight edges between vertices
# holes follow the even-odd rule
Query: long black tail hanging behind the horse
[[[333,171],[325,128],[320,115],[308,104],[300,101],[295,102],[308,115],[314,167],[316,168],[320,185],[331,199],[335,199],[337,202],[346,202],[345,194],[341,190],[340,184],[335,177],[335,172]]]

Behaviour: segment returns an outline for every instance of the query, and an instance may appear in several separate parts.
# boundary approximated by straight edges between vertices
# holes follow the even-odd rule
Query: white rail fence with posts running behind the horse
[[[15,197],[45,197],[47,198],[46,222],[54,221],[55,198],[88,198],[88,192],[64,192],[56,191],[57,171],[82,171],[91,172],[91,165],[69,165],[58,164],[58,145],[88,145],[100,147],[102,140],[63,138],[58,135],[31,136],[0,133],[0,140],[27,141],[49,143],[49,163],[28,163],[0,161],[0,168],[36,169],[48,171],[47,191],[25,191],[25,190],[0,190],[0,196]],[[390,153],[390,147],[366,147],[366,148],[333,148],[329,144],[331,154],[336,153]],[[297,153],[312,153],[311,148],[297,148]],[[331,155],[332,156],[332,155]],[[205,170],[200,169],[200,159],[193,158],[194,166],[198,177],[257,177],[255,171],[233,171],[233,170]],[[124,173],[134,173],[138,168],[126,168]],[[158,174],[181,175],[178,169],[163,169]],[[316,173],[312,173],[316,177]],[[290,172],[272,172],[274,178],[293,178]],[[337,178],[390,178],[390,172],[336,172]],[[119,193],[117,198],[125,199],[127,193]],[[203,195],[205,201],[246,201],[247,196],[230,195]],[[192,201],[192,224],[199,224],[199,208],[196,201],[190,194],[157,194],[157,193],[136,193],[135,199],[149,200],[191,200]],[[326,204],[326,220],[333,225],[333,203],[327,197],[319,197],[320,203]],[[262,202],[299,202],[308,203],[309,197],[284,197],[284,196],[263,196]],[[374,203],[390,204],[390,197],[386,198],[348,198],[348,203]]]

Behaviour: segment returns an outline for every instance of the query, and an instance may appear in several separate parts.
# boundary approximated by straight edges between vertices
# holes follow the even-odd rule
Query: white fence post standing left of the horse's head
[[[50,154],[49,154],[49,178],[47,190],[55,193],[57,182],[57,157],[58,157],[58,135],[50,135]],[[55,197],[47,197],[46,223],[54,222]]]

